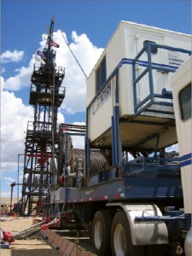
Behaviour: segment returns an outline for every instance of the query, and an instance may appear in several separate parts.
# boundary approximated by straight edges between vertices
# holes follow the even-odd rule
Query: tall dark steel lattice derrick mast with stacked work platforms
[[[58,154],[57,113],[65,97],[61,87],[65,75],[63,67],[56,67],[56,51],[53,41],[54,20],[49,26],[49,35],[40,63],[35,62],[29,103],[34,108],[34,120],[29,122],[26,132],[26,151],[22,189],[22,214],[30,215],[37,209],[42,198],[48,195],[56,181],[56,155]],[[39,60],[38,60],[39,61]]]

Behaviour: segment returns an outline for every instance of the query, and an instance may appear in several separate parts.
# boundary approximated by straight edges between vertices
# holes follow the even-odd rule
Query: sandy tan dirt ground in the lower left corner
[[[2,230],[17,233],[32,226],[33,218],[1,218]],[[15,240],[9,249],[0,248],[1,256],[61,256],[61,253],[50,247],[43,236],[38,232],[36,235],[22,240]]]

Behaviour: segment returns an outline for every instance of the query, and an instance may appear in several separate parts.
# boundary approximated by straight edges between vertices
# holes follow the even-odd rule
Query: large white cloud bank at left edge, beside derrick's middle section
[[[33,119],[33,109],[26,107],[13,92],[1,92],[1,166],[17,168],[17,154],[24,151],[26,126]],[[12,172],[14,170],[12,169]]]

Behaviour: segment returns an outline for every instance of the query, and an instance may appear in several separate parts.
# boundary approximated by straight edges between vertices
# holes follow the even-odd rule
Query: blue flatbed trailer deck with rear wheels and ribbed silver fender
[[[176,255],[173,252],[183,247],[190,216],[183,215],[181,210],[183,191],[177,158],[140,157],[123,163],[121,168],[103,169],[84,180],[81,175],[73,178],[75,182],[67,181],[68,187],[61,186],[46,198],[44,217],[58,216],[59,229],[88,232],[97,255],[112,253],[107,244],[111,244],[112,220],[118,214],[125,214],[129,219],[132,241],[125,239],[129,248],[133,247],[133,254],[125,253],[123,246],[116,248],[118,252]],[[70,187],[71,184],[74,187]],[[118,221],[125,216],[117,217]],[[123,240],[120,235],[113,236],[119,243]],[[108,241],[104,237],[108,237]],[[153,247],[154,244],[158,246]]]

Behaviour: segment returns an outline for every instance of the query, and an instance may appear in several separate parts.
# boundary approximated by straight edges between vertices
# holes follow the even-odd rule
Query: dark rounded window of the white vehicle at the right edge
[[[191,118],[191,83],[180,91],[179,107],[183,121]]]

